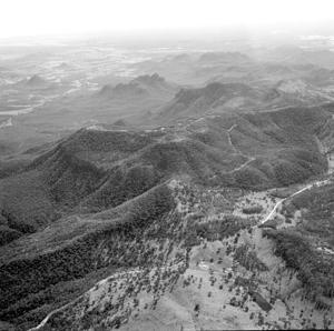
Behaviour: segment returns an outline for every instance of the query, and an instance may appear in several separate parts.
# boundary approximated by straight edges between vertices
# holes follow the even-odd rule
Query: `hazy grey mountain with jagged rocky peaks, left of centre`
[[[82,89],[77,93],[67,93],[61,99],[60,109],[60,112],[67,109],[66,117],[59,116],[58,108],[46,111],[45,117],[52,117],[53,126],[56,120],[60,127],[71,130],[73,127],[84,127],[90,120],[104,124],[112,124],[118,119],[128,124],[138,123],[148,111],[156,113],[179,90],[177,84],[157,74],[137,77],[117,84],[108,81],[110,82],[108,79],[102,80],[99,90]],[[71,120],[67,120],[68,118]]]

